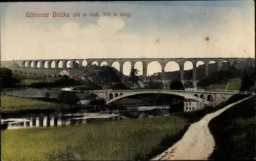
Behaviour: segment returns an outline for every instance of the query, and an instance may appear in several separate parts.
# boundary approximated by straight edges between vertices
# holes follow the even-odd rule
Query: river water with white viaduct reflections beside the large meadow
[[[28,128],[38,126],[70,126],[97,121],[119,120],[169,114],[169,107],[136,106],[125,110],[109,110],[95,113],[81,111],[80,113],[55,112],[23,116],[23,118],[8,118],[1,120],[1,129]]]

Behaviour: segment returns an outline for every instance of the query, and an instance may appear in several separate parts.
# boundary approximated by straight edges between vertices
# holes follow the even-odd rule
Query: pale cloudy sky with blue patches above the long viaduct
[[[1,3],[0,11],[1,61],[255,57],[254,1],[24,2]],[[49,17],[31,18],[27,12]],[[53,12],[70,17],[52,17]],[[119,70],[118,63],[113,66]],[[135,68],[142,73],[142,63]],[[184,69],[191,68],[186,62]],[[130,69],[125,63],[124,74]],[[165,67],[175,70],[175,62]],[[147,74],[156,72],[161,66],[152,62]]]

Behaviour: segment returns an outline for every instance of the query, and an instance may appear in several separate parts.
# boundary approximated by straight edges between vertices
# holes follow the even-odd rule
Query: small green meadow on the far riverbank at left
[[[23,110],[45,110],[63,108],[60,103],[45,102],[35,99],[1,96],[2,112],[17,112]]]

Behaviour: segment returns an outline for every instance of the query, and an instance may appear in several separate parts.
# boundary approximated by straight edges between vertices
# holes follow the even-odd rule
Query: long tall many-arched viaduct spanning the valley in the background
[[[118,62],[120,74],[123,74],[123,65],[125,62],[130,62],[131,68],[134,68],[136,62],[142,63],[142,78],[143,81],[146,80],[147,66],[153,61],[158,62],[162,68],[161,80],[164,80],[164,70],[165,66],[169,62],[176,62],[179,66],[180,71],[180,80],[184,80],[184,64],[185,62],[191,62],[193,64],[193,81],[197,80],[197,63],[202,61],[205,64],[205,77],[208,76],[209,73],[209,63],[214,61],[217,63],[218,70],[222,69],[222,65],[224,62],[229,62],[230,66],[233,66],[235,62],[240,62],[242,60],[246,60],[246,58],[99,58],[99,59],[47,59],[47,60],[14,60],[15,64],[20,68],[40,68],[40,69],[65,69],[67,65],[70,64],[70,68],[74,69],[74,64],[78,63],[79,67],[75,67],[75,69],[82,69],[82,66],[92,65],[96,63],[97,65],[101,65],[101,63],[105,62],[106,64],[112,66],[114,62]],[[4,62],[3,62],[4,63]],[[7,63],[7,62],[5,62]],[[85,66],[86,66],[85,65]],[[196,82],[194,83],[194,86]]]

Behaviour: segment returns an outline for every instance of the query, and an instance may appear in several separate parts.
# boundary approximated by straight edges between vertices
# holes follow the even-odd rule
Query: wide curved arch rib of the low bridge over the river
[[[157,91],[157,90],[151,90],[151,91],[136,91],[136,92],[131,92],[131,93],[127,93],[127,94],[124,94],[124,95],[120,95],[120,96],[115,97],[115,98],[113,98],[113,94],[110,93],[110,94],[109,94],[109,98],[110,98],[110,96],[112,95],[112,98],[113,98],[113,99],[109,99],[109,101],[106,101],[105,104],[109,104],[109,103],[115,102],[115,101],[120,100],[120,99],[123,99],[123,98],[125,98],[125,97],[133,96],[133,95],[139,95],[139,94],[154,94],[154,93],[162,93],[162,94],[169,94],[169,95],[181,96],[181,97],[185,97],[185,98],[191,98],[191,99],[195,99],[195,100],[200,101],[200,102],[204,102],[205,104],[210,105],[210,106],[213,105],[213,104],[212,104],[213,100],[212,100],[212,102],[206,101],[205,99],[196,97],[196,96],[191,95],[191,94],[185,94],[185,93],[174,92],[174,91]],[[213,98],[213,97],[212,97],[212,98]]]

